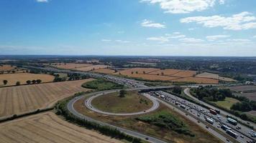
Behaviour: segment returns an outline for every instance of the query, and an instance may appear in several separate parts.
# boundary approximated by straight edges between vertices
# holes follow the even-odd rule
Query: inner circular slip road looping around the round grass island
[[[104,92],[104,94],[109,94],[111,92]],[[148,112],[152,112],[154,111],[155,109],[157,109],[159,107],[159,102],[157,102],[157,100],[155,99],[155,97],[152,97],[150,96],[150,94],[143,94],[143,96],[147,97],[148,99],[150,99],[152,102],[153,102],[153,105],[150,109],[147,109],[145,111],[142,111],[142,112],[134,112],[134,113],[111,113],[111,112],[103,112],[99,109],[96,109],[95,107],[93,107],[93,105],[91,104],[91,101],[93,99],[95,99],[96,97],[99,97],[99,96],[104,96],[103,93],[101,94],[96,94],[95,96],[92,96],[92,97],[89,97],[88,99],[86,99],[85,101],[85,105],[88,109],[91,109],[93,112],[97,112],[97,113],[100,113],[100,114],[108,114],[108,115],[114,115],[114,116],[132,116],[132,115],[137,115],[137,114],[145,114],[145,113],[148,113]]]

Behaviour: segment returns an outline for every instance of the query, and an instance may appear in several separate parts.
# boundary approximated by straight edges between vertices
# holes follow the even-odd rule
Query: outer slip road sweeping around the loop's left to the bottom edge
[[[117,92],[119,90],[111,90],[111,92]],[[103,94],[104,92],[96,92],[96,93],[91,93],[89,94],[88,96],[92,96],[94,94]],[[116,127],[114,125],[111,125],[111,124],[107,124],[107,123],[104,123],[104,122],[100,122],[96,119],[91,119],[90,117],[86,117],[84,116],[83,114],[80,114],[76,111],[76,109],[73,108],[73,104],[76,103],[79,99],[82,99],[84,97],[84,95],[82,95],[81,97],[76,97],[72,100],[70,100],[70,102],[68,102],[68,110],[73,114],[75,115],[76,117],[80,118],[80,119],[86,119],[88,121],[91,121],[91,122],[96,122],[98,124],[101,124],[101,125],[105,125],[105,126],[109,126],[109,127],[113,127],[115,129],[118,129],[120,132],[124,132],[125,134],[129,134],[133,137],[138,137],[140,139],[146,139],[148,142],[155,142],[155,143],[166,143],[166,142],[163,142],[161,141],[160,139],[156,139],[154,137],[150,137],[150,136],[147,136],[145,134],[141,134],[139,132],[134,132],[134,131],[131,131],[131,130],[128,130],[128,129],[124,129],[122,127]]]

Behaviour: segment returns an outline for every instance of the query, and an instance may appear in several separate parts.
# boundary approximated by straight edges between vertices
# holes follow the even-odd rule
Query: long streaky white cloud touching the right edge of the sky
[[[230,17],[224,16],[192,16],[180,19],[181,23],[196,22],[206,27],[223,27],[228,30],[256,29],[256,17],[251,13],[244,11],[240,14],[234,14]]]

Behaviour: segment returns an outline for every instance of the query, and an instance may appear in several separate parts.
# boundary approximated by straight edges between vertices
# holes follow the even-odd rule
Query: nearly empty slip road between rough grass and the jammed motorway
[[[175,112],[178,112],[179,114],[182,114],[184,117],[188,118],[191,122],[194,122],[195,124],[198,124],[198,126],[202,127],[203,129],[206,129],[207,132],[209,132],[210,134],[214,134],[215,137],[218,137],[219,139],[221,139],[222,142],[231,142],[231,141],[227,141],[227,138],[222,136],[221,134],[219,134],[218,132],[216,132],[214,129],[211,128],[206,128],[206,124],[203,124],[202,122],[198,123],[198,120],[195,119],[194,117],[189,116],[188,114],[186,114],[185,112],[181,111],[180,109],[178,109],[177,107],[174,107],[172,104],[168,104],[166,102],[163,102],[160,99],[157,99],[157,101],[165,104],[167,107],[174,109]]]

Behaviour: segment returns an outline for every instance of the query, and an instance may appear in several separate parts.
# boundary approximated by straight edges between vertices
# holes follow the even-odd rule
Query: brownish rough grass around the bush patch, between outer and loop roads
[[[86,99],[86,97],[85,97]],[[95,112],[91,112],[90,109],[87,109],[83,104],[84,99],[79,100],[74,104],[75,109],[81,114],[85,114],[86,116],[92,117],[93,119],[98,119],[103,122],[107,122],[109,124],[115,124],[119,127],[124,127],[126,129],[132,129],[137,132],[141,132],[142,134],[148,134],[152,137],[157,137],[159,139],[163,139],[166,142],[174,142],[174,143],[219,143],[221,142],[219,139],[209,134],[206,130],[198,127],[193,122],[189,121],[185,117],[181,116],[173,109],[165,107],[163,104],[160,104],[160,107],[155,112],[150,112],[143,115],[137,115],[132,117],[116,117],[116,116],[107,116],[103,114],[97,114]],[[167,112],[173,115],[186,124],[186,127],[195,137],[191,137],[186,134],[179,134],[175,132],[173,129],[167,129],[163,127],[158,127],[154,124],[149,124],[147,122],[138,121],[137,117],[143,117],[145,115],[157,114],[159,112]]]

